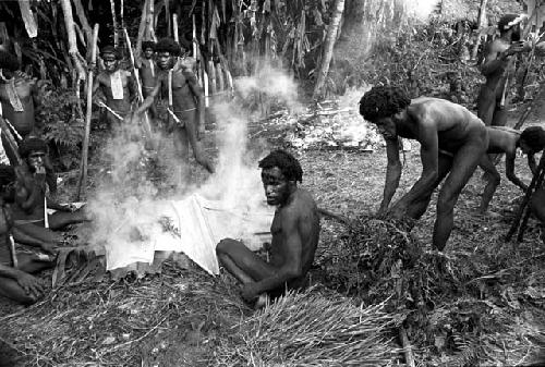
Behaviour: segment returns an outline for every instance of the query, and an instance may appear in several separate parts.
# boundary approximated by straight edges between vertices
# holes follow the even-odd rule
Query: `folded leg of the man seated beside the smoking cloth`
[[[241,283],[272,277],[276,269],[239,241],[226,238],[216,246],[219,262]]]

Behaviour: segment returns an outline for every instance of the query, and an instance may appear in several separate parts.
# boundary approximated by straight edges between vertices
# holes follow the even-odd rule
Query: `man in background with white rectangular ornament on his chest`
[[[111,126],[119,126],[122,119],[132,111],[132,102],[137,94],[132,74],[120,69],[121,51],[113,46],[106,46],[100,53],[105,70],[100,72],[93,83],[95,103],[105,103],[116,114],[107,111],[107,119]],[[100,91],[100,95],[97,95]],[[100,106],[100,105],[99,105]]]

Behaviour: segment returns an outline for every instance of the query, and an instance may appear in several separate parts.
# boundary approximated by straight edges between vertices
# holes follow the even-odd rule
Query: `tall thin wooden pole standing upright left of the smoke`
[[[93,28],[93,44],[90,45],[90,64],[94,68],[97,60],[97,38],[98,38],[98,24]],[[75,195],[76,200],[81,199],[82,194],[85,195],[87,185],[87,158],[89,154],[89,137],[90,137],[90,115],[93,112],[93,68],[89,69],[87,75],[87,109],[85,114],[85,135],[83,138],[82,147],[82,163],[80,172],[80,181],[77,182],[77,192]]]

